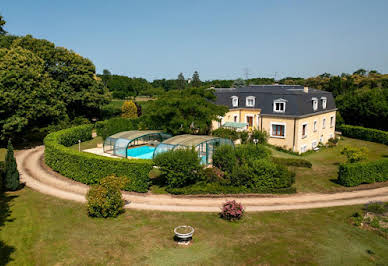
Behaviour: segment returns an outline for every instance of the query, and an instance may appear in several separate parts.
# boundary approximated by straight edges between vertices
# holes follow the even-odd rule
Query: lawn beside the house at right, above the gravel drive
[[[388,156],[388,146],[386,145],[346,137],[342,137],[342,140],[339,141],[336,147],[324,148],[305,156],[296,156],[274,149],[271,150],[273,156],[276,157],[301,158],[312,163],[313,167],[311,169],[293,168],[296,172],[295,186],[298,192],[337,192],[354,189],[343,187],[335,182],[338,176],[339,164],[346,161],[346,157],[341,155],[341,150],[348,145],[365,147],[368,150],[368,160],[377,160]],[[358,188],[386,185],[385,183],[361,185]]]

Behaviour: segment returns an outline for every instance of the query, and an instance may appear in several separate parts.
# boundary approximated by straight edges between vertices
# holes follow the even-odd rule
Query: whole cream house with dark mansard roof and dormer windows
[[[268,132],[270,144],[303,153],[335,135],[336,106],[330,92],[294,85],[216,88],[216,103],[229,108],[212,127]]]

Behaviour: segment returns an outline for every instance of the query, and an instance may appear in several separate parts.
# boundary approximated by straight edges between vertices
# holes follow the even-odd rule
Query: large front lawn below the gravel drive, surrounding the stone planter
[[[387,239],[348,222],[360,206],[248,213],[238,222],[224,221],[216,213],[135,210],[126,210],[118,218],[95,219],[86,215],[83,204],[28,188],[7,193],[0,206],[0,264],[8,260],[9,265],[375,265],[388,261]],[[190,246],[173,241],[174,227],[184,224],[195,228]]]

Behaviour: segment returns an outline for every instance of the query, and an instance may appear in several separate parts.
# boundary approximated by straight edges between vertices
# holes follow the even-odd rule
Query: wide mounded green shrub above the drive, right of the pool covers
[[[249,161],[236,166],[228,176],[234,186],[245,186],[256,190],[271,190],[290,187],[293,174],[286,167],[269,160]]]

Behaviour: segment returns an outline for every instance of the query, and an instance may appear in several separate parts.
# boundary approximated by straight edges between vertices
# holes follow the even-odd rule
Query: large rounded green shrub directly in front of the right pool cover
[[[194,149],[170,150],[158,154],[154,162],[161,170],[162,180],[169,187],[184,187],[200,179],[200,159]]]

